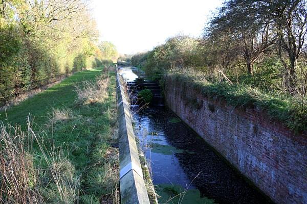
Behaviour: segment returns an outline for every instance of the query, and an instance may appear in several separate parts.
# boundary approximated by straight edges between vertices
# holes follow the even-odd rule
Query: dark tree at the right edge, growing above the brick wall
[[[267,10],[267,18],[275,23],[278,37],[278,53],[285,68],[286,84],[291,92],[296,84],[297,60],[303,51],[307,32],[307,1],[263,1]],[[269,12],[270,11],[270,12]],[[288,54],[288,60],[284,58],[283,52]]]

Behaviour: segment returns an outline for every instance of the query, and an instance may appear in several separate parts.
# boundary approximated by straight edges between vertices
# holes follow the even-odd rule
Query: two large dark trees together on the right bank
[[[269,45],[277,42],[278,56],[284,68],[284,82],[289,91],[294,93],[297,60],[306,40],[306,0],[230,0],[211,21],[211,25],[213,31],[242,33],[243,56],[247,67],[257,55],[265,53]],[[246,31],[248,35],[244,34]],[[251,35],[250,31],[256,31],[257,35]],[[260,42],[256,41],[258,48],[254,49],[253,40],[259,36],[264,37],[260,38]]]

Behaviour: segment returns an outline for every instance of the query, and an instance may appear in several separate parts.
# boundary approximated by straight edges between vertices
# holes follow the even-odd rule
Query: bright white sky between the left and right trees
[[[176,34],[198,37],[222,0],[92,0],[101,41],[121,54],[150,50]]]

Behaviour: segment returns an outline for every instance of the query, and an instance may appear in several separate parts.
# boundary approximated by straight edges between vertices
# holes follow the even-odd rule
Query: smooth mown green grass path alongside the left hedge
[[[71,77],[63,80],[47,90],[36,94],[21,102],[17,106],[12,106],[6,111],[0,112],[0,120],[26,126],[29,113],[35,117],[35,123],[42,124],[48,120],[48,113],[52,108],[73,107],[77,98],[74,84],[82,81],[95,79],[101,69],[90,69],[77,72]]]

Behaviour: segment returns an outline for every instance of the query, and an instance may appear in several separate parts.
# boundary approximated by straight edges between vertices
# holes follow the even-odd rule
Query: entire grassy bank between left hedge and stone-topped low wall
[[[1,202],[119,201],[114,78],[85,70],[0,113]]]

